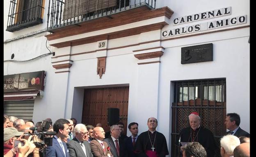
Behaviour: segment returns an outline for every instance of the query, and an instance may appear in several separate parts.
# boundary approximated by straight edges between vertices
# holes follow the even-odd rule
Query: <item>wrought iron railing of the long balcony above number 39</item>
[[[155,8],[156,0],[49,0],[47,31],[78,25],[80,22],[146,5]]]

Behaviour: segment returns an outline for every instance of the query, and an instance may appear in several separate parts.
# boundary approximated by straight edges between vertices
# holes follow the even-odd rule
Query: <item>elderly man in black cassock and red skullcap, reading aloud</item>
[[[193,115],[192,115],[193,114]],[[213,137],[213,133],[200,126],[200,117],[197,112],[192,112],[190,117],[190,127],[184,128],[180,132],[181,142],[198,142],[201,144],[207,153],[207,157],[214,157],[215,150],[217,149],[217,144]],[[198,117],[199,119],[197,119]],[[197,125],[192,124],[191,121],[197,121]]]

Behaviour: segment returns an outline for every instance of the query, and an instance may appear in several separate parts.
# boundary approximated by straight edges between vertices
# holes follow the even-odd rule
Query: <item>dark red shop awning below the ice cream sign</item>
[[[40,91],[24,91],[4,93],[4,101],[34,100],[40,95]]]

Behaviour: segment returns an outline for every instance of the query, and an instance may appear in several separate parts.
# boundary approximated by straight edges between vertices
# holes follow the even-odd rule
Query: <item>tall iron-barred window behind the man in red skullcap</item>
[[[216,143],[226,132],[226,79],[201,79],[174,81],[172,109],[171,157],[179,155],[178,138],[183,128],[188,127],[188,116],[198,112],[201,125],[213,132]],[[216,156],[220,156],[219,150]]]

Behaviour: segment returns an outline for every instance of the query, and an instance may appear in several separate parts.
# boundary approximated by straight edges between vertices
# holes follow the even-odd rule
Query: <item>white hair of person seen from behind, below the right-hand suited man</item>
[[[220,146],[222,146],[227,155],[233,155],[236,146],[240,145],[240,140],[234,135],[226,135],[220,139]]]

